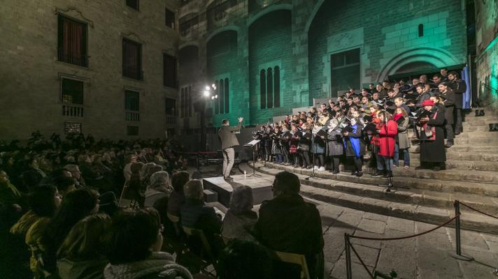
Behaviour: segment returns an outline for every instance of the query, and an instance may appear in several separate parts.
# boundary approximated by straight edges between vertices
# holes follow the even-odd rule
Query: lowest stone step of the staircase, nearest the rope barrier
[[[453,211],[448,209],[439,209],[436,207],[415,204],[404,204],[400,202],[389,202],[384,199],[361,197],[347,193],[337,193],[332,190],[325,190],[311,186],[301,185],[301,195],[312,199],[318,199],[321,202],[336,204],[338,206],[346,206],[351,209],[382,214],[385,216],[416,220],[434,225],[446,223],[455,216]],[[491,234],[496,234],[498,230],[498,222],[495,219],[481,214],[464,211],[462,211],[460,225],[462,229],[471,229]],[[449,223],[448,227],[455,227],[455,223]]]

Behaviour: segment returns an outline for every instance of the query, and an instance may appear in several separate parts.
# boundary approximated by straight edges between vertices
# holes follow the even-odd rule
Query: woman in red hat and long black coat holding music
[[[434,97],[432,97],[434,98]],[[420,167],[432,168],[435,172],[444,168],[446,150],[444,149],[445,116],[433,100],[422,103],[425,114],[418,117],[420,129]]]

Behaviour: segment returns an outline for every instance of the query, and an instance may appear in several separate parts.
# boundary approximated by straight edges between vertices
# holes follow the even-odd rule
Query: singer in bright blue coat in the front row
[[[355,171],[352,173],[358,177],[363,175],[363,156],[365,155],[365,143],[363,141],[362,124],[357,118],[350,119],[350,124],[343,128],[344,149],[346,157],[352,157]]]

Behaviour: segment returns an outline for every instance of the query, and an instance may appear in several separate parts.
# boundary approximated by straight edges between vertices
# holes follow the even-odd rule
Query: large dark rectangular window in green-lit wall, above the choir
[[[333,96],[338,91],[360,87],[360,49],[332,54],[330,57],[330,84]]]

